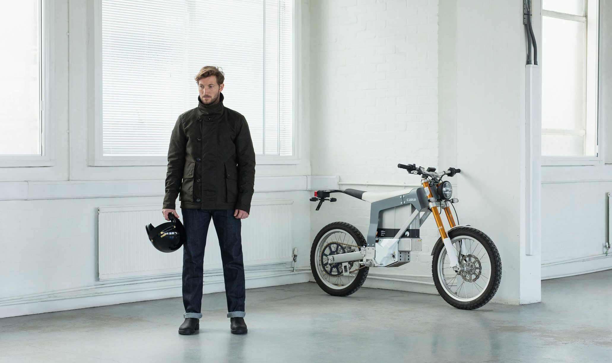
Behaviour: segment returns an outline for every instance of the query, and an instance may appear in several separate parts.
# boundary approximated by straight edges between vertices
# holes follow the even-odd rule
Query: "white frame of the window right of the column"
[[[594,140],[595,145],[591,147],[595,148],[595,155],[583,155],[583,156],[545,156],[542,155],[542,166],[593,166],[603,164],[603,153],[602,153],[602,127],[600,124],[600,82],[599,82],[599,68],[600,68],[600,1],[584,0],[585,11],[586,11],[586,122],[592,122],[594,124],[586,127],[586,133],[595,133]],[[592,15],[595,13],[596,16]],[[554,12],[552,10],[541,10],[540,17],[550,16],[554,18],[561,18],[565,20],[577,21],[579,18],[583,18],[580,15],[571,15],[566,13]],[[542,20],[540,20],[542,24]],[[592,85],[592,82],[595,82]],[[591,90],[591,92],[589,92]],[[589,138],[587,138],[587,142]]]

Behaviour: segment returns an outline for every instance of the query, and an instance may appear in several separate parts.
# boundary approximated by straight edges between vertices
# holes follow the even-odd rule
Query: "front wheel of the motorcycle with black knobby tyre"
[[[471,227],[449,231],[459,271],[453,270],[442,239],[433,249],[431,273],[436,289],[457,309],[473,310],[487,304],[501,281],[501,259],[491,238]]]

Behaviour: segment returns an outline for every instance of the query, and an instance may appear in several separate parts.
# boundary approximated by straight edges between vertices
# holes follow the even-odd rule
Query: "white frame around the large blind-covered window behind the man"
[[[300,21],[301,4],[298,0],[291,0],[293,2],[293,34],[292,34],[292,48],[293,48],[293,79],[292,79],[292,147],[293,155],[281,156],[281,155],[256,155],[256,164],[299,164],[301,163],[301,157],[299,152],[299,109],[301,108],[300,102],[300,89],[301,84],[301,45],[300,39],[297,36],[301,32],[302,23]],[[92,44],[92,58],[93,58],[93,69],[91,72],[91,81],[93,84],[93,100],[92,105],[92,120],[89,128],[89,152],[88,152],[88,166],[166,166],[168,164],[168,158],[166,156],[103,156],[102,155],[102,1],[95,1],[93,8],[93,44]],[[196,90],[194,90],[195,94]],[[187,110],[185,110],[187,111]],[[248,122],[248,120],[247,120]]]

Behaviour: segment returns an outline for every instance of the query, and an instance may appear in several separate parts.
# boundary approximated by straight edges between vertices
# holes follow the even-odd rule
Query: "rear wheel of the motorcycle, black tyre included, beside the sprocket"
[[[352,224],[333,222],[317,233],[310,250],[310,268],[321,289],[334,296],[348,296],[359,290],[368,276],[368,268],[359,261],[348,263],[348,276],[342,263],[329,263],[331,255],[359,252],[365,247],[364,235]]]

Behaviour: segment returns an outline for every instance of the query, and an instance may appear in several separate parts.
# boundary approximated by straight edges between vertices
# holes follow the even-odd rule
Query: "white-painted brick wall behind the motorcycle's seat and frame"
[[[419,183],[398,163],[438,167],[438,1],[310,1],[313,175],[341,182]],[[343,185],[341,189],[401,187]],[[332,221],[367,233],[369,204],[349,196],[312,207],[312,238]],[[386,273],[430,274],[432,221],[424,252]],[[372,271],[373,272],[373,271]],[[427,281],[427,279],[425,279]],[[429,279],[431,281],[431,279]]]

